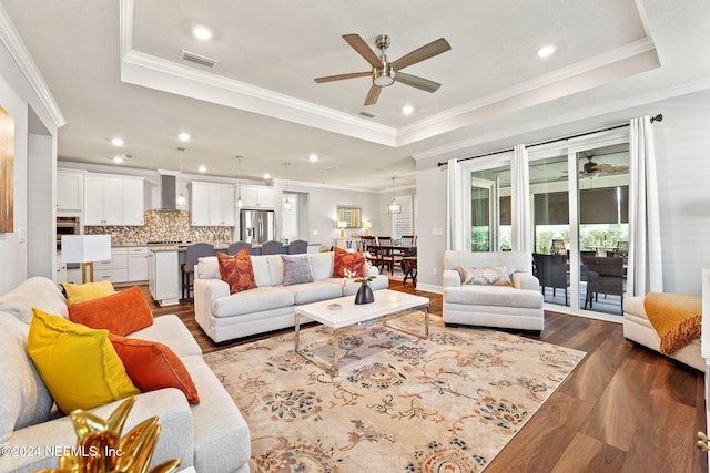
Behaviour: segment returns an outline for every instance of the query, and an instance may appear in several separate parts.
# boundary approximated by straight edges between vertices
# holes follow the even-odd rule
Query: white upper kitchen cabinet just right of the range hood
[[[192,226],[234,226],[234,186],[215,183],[190,183]]]

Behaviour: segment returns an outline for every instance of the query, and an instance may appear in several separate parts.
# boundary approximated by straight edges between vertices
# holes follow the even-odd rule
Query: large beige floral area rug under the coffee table
[[[585,356],[432,319],[427,340],[383,325],[341,333],[335,378],[293,335],[205,354],[250,426],[251,471],[483,471]],[[395,322],[420,329],[423,316]],[[302,347],[329,361],[329,335],[302,330]]]

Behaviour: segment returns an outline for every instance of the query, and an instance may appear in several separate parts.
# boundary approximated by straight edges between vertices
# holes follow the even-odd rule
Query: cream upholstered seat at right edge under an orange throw
[[[643,296],[623,299],[623,338],[660,353],[661,339],[648,320],[643,308]],[[700,338],[693,339],[690,345],[673,351],[671,354],[667,354],[667,357],[699,371],[706,370],[706,360],[700,353]]]

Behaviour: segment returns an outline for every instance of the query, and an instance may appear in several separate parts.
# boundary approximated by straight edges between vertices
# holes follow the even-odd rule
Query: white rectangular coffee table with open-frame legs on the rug
[[[366,322],[382,321],[387,327],[402,332],[426,339],[429,337],[429,299],[413,294],[383,289],[374,291],[375,301],[372,304],[355,304],[355,296],[328,299],[320,302],[295,307],[294,351],[313,362],[332,376],[337,376],[339,369],[338,332]],[[416,310],[424,311],[423,332],[388,323],[389,320],[406,316]],[[306,317],[332,329],[331,343],[333,346],[333,362],[320,358],[311,352],[306,354],[301,349],[301,321]]]

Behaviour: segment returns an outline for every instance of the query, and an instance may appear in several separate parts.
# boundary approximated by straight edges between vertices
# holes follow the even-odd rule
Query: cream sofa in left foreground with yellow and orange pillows
[[[53,400],[27,352],[32,307],[67,318],[67,300],[47,278],[26,280],[0,297],[0,472],[55,469],[57,454],[77,442],[71,419],[52,409]],[[199,472],[248,472],[250,432],[239,409],[202,359],[202,352],[176,316],[161,316],[130,338],[170,347],[190,372],[200,403],[190,405],[175,388],[141,393],[123,433],[158,415],[161,425],[151,466],[180,459],[180,469]],[[91,412],[106,419],[122,401]]]

